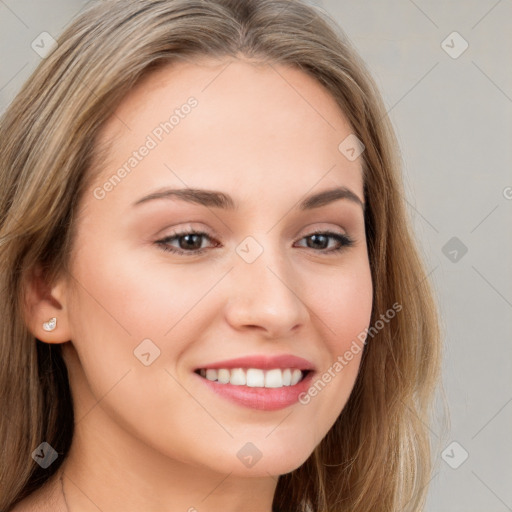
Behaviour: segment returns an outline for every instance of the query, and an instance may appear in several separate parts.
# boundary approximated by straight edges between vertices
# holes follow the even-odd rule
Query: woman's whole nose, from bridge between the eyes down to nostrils
[[[228,320],[238,327],[259,326],[284,336],[307,318],[295,290],[293,268],[271,236],[247,237],[236,248]]]

